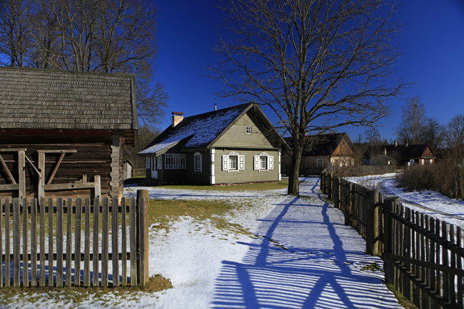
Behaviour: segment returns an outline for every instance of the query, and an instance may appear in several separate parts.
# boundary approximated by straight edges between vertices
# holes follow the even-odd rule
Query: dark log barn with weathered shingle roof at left
[[[0,67],[0,197],[123,195],[134,77]]]

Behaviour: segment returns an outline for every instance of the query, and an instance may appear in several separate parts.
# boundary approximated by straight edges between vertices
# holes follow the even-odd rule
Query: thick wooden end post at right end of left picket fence
[[[139,220],[137,228],[137,240],[139,242],[137,251],[137,270],[139,285],[148,283],[148,190],[137,190],[137,202],[139,204]]]

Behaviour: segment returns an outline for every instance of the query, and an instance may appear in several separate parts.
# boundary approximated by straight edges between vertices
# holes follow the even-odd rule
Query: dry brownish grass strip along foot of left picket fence
[[[150,277],[148,283],[143,287],[126,286],[110,288],[84,288],[84,287],[30,287],[30,288],[2,288],[0,290],[0,306],[8,306],[13,299],[20,297],[24,301],[36,303],[44,299],[60,300],[66,303],[79,304],[88,299],[108,303],[111,306],[118,304],[118,297],[121,301],[139,299],[140,293],[153,293],[172,288],[171,282],[161,275]]]

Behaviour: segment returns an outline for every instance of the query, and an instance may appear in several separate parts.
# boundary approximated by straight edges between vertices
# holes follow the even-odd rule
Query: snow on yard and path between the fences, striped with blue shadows
[[[141,187],[126,188],[134,195]],[[235,205],[226,220],[250,233],[219,229],[184,216],[168,229],[150,227],[150,276],[173,288],[125,298],[109,293],[82,303],[16,297],[10,308],[402,308],[384,285],[382,260],[343,224],[319,194],[319,179],[301,183],[304,197],[276,191],[187,191],[148,188],[151,198],[220,200]],[[378,268],[377,268],[378,267]]]

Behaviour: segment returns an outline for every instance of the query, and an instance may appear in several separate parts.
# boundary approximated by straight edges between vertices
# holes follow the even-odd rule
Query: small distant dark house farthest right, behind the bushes
[[[371,165],[413,166],[434,164],[436,156],[428,144],[376,145],[368,148],[364,155]]]

